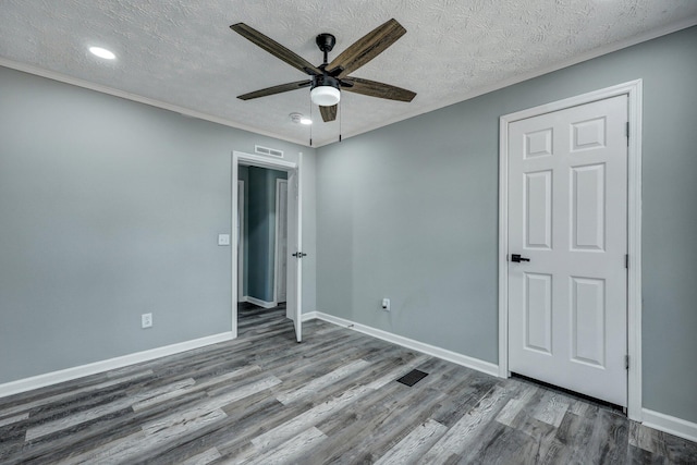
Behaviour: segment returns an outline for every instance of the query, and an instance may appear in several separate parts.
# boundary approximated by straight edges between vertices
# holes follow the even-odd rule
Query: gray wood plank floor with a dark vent
[[[235,341],[0,399],[0,463],[697,463],[697,444],[570,394],[240,314]]]

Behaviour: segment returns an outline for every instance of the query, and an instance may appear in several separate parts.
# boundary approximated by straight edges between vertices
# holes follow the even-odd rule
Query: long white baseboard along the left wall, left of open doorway
[[[193,348],[217,344],[219,342],[231,341],[233,339],[234,335],[232,332],[222,332],[220,334],[208,335],[206,338],[194,339],[192,341],[180,342],[162,347],[150,348],[149,351],[136,352],[134,354],[109,358],[107,360],[95,362],[87,365],[81,365],[77,367],[33,376],[30,378],[10,381],[4,384],[0,384],[0,397],[19,394],[21,392],[30,391],[33,389],[45,388],[47,386],[57,384],[59,382],[71,381],[73,379],[83,378],[108,370],[123,368],[125,366],[139,364],[142,362],[149,362],[155,358],[179,354],[180,352],[186,352]]]

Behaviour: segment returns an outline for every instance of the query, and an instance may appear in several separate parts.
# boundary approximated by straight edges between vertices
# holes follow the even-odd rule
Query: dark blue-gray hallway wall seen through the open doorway
[[[276,180],[285,180],[283,171],[249,167],[248,195],[245,197],[245,224],[248,249],[245,271],[247,294],[265,302],[273,301],[276,285]]]

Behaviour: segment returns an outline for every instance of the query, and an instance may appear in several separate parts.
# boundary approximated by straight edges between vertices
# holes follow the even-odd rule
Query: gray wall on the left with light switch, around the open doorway
[[[4,68],[0,102],[0,383],[230,331],[232,150],[314,149]]]

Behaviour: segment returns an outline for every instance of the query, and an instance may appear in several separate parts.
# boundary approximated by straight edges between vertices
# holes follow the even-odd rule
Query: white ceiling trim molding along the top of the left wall
[[[64,83],[64,84],[70,84],[72,86],[82,87],[82,88],[86,88],[86,89],[89,89],[89,90],[95,90],[95,91],[98,91],[100,94],[108,94],[108,95],[111,95],[111,96],[114,96],[114,97],[124,98],[126,100],[132,100],[132,101],[136,101],[138,103],[148,105],[150,107],[159,108],[161,110],[173,111],[173,112],[180,113],[180,114],[182,114],[184,117],[189,117],[189,118],[195,118],[195,119],[198,119],[198,120],[209,121],[211,123],[221,124],[223,126],[234,127],[236,130],[246,131],[248,133],[259,134],[259,135],[262,135],[262,136],[272,137],[274,139],[285,140],[285,142],[290,142],[290,143],[293,143],[293,144],[298,144],[298,145],[302,145],[302,146],[305,146],[305,147],[309,147],[307,145],[307,142],[296,140],[296,139],[292,139],[292,138],[288,138],[288,137],[281,137],[281,136],[277,135],[277,134],[271,134],[269,132],[259,131],[259,130],[253,129],[250,126],[246,126],[244,124],[233,123],[232,121],[225,120],[224,118],[213,117],[213,115],[210,115],[210,114],[201,113],[199,111],[189,110],[188,108],[179,107],[176,105],[167,103],[164,101],[156,100],[156,99],[148,98],[148,97],[143,97],[143,96],[139,96],[137,94],[131,94],[131,93],[125,91],[125,90],[119,90],[119,89],[115,89],[113,87],[109,87],[109,86],[105,86],[105,85],[101,85],[101,84],[91,83],[89,81],[81,79],[81,78],[73,77],[73,76],[68,76],[65,74],[58,73],[56,71],[44,70],[42,68],[34,66],[32,64],[20,63],[17,61],[9,60],[9,59],[3,58],[3,57],[0,57],[0,66],[9,68],[9,69],[15,70],[15,71],[21,71],[23,73],[34,74],[34,75],[37,75],[37,76],[40,76],[40,77],[46,77],[46,78],[51,79],[51,81],[58,81],[58,82],[61,82],[61,83]],[[311,148],[315,148],[315,147],[311,147]]]

